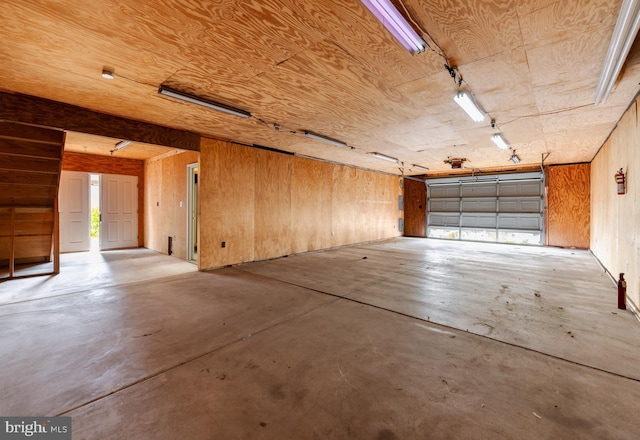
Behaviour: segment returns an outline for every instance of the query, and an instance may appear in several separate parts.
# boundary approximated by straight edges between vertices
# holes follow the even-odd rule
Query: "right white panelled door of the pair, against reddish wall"
[[[100,249],[138,247],[138,177],[100,178]]]

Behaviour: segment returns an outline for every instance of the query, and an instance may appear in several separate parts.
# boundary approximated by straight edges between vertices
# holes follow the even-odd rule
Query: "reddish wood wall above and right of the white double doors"
[[[64,171],[138,176],[138,246],[144,246],[144,161],[65,151]]]

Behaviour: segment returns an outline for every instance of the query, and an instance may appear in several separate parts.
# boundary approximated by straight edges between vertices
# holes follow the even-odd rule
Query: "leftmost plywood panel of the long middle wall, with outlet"
[[[203,139],[200,151],[199,267],[253,261],[258,150]]]

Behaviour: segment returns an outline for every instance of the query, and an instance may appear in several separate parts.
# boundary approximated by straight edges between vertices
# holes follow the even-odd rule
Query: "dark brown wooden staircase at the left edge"
[[[0,267],[4,273],[8,267],[8,278],[15,277],[16,265],[52,258],[54,268],[47,274],[60,271],[63,150],[61,130],[0,122]]]

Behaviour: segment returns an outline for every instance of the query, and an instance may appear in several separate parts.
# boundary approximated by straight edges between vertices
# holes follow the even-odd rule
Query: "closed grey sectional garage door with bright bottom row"
[[[427,236],[543,244],[544,174],[429,179]]]

